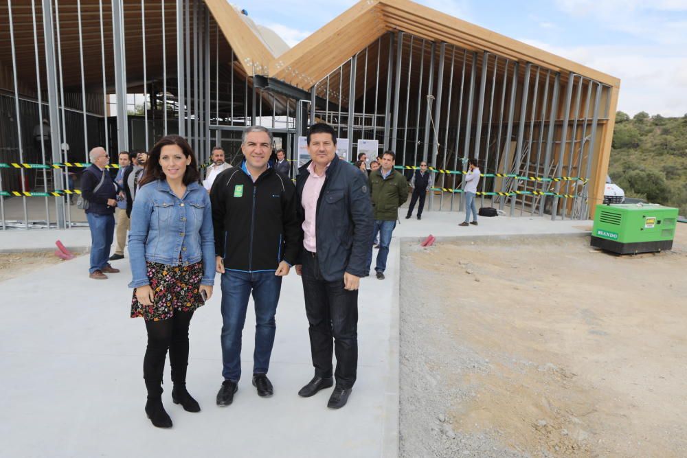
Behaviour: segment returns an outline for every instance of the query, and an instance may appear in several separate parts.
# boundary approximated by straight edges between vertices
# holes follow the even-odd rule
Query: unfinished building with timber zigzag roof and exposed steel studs
[[[237,157],[251,124],[290,159],[324,121],[349,158],[376,139],[397,165],[429,161],[431,209],[460,209],[469,157],[482,205],[511,216],[586,219],[603,198],[620,80],[412,1],[362,0],[285,52],[226,0],[7,0],[0,37],[3,229],[74,225],[66,172],[94,146],[179,133],[203,162],[214,144]]]

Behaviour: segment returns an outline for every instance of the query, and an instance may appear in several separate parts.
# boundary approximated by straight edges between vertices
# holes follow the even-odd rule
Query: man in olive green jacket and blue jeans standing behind
[[[379,232],[379,252],[374,270],[378,279],[384,279],[386,260],[389,256],[391,236],[398,219],[398,207],[408,200],[408,183],[403,174],[394,170],[396,154],[385,151],[379,170],[370,174],[370,193],[374,208],[374,233],[370,238],[368,250],[368,271],[372,265],[372,243]]]

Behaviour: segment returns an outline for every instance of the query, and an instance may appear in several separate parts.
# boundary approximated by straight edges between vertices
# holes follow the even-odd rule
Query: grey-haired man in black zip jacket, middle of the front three
[[[241,376],[241,336],[248,300],[256,310],[253,385],[272,396],[267,378],[275,336],[274,316],[282,288],[300,251],[300,229],[291,180],[269,166],[272,135],[252,126],[243,133],[240,167],[218,174],[210,190],[216,269],[222,274],[222,375],[217,404],[234,401]]]

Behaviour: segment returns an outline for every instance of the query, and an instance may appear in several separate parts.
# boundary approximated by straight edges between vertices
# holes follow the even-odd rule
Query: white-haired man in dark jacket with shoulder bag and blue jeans
[[[86,218],[91,230],[91,267],[89,277],[107,279],[105,273],[117,273],[110,266],[110,248],[115,233],[115,207],[117,185],[105,169],[109,155],[100,146],[89,152],[91,165],[81,175],[81,194],[89,202]]]

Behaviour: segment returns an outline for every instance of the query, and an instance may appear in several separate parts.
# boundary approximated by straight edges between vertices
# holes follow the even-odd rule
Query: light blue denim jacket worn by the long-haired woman
[[[201,285],[214,285],[214,235],[207,191],[191,183],[180,199],[166,181],[144,185],[131,211],[128,250],[133,274],[129,288],[149,284],[146,261],[188,266],[202,260]]]

